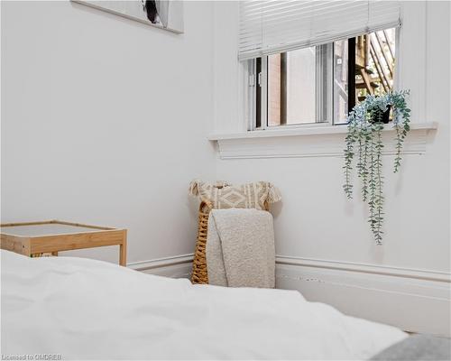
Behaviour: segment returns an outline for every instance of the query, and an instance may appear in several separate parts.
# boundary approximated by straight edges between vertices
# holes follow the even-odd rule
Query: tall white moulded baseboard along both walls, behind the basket
[[[128,264],[144,273],[189,278],[193,255]],[[347,315],[410,332],[450,336],[451,274],[373,264],[276,257],[276,287]]]

